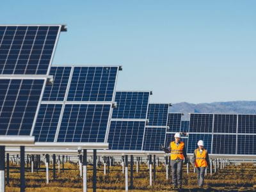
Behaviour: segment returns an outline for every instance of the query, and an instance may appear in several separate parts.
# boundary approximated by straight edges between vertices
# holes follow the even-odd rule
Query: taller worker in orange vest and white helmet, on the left
[[[182,163],[187,163],[185,143],[180,141],[180,133],[174,135],[175,141],[170,143],[172,184],[175,188],[182,188]]]

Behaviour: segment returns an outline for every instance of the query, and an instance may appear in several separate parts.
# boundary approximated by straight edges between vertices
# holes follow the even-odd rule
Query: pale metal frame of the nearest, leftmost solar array
[[[34,116],[34,120],[33,120],[33,124],[32,124],[32,127],[31,127],[31,131],[30,131],[30,134],[29,136],[32,136],[33,134],[33,130],[35,128],[35,124],[36,124],[36,116],[38,115],[38,111],[39,111],[39,108],[40,108],[40,104],[42,102],[42,97],[43,97],[43,94],[44,94],[44,89],[45,89],[45,85],[47,83],[47,80],[48,79],[51,79],[52,76],[49,76],[49,70],[51,68],[51,63],[52,63],[52,60],[53,60],[53,57],[54,57],[54,54],[55,54],[55,51],[56,51],[56,45],[58,44],[58,40],[59,40],[59,37],[60,37],[60,32],[61,31],[67,31],[66,29],[66,26],[65,25],[62,25],[62,24],[0,24],[1,27],[8,27],[8,26],[15,26],[15,27],[19,27],[19,26],[26,26],[26,27],[29,27],[29,26],[37,26],[37,27],[40,27],[40,26],[47,26],[47,27],[51,27],[51,26],[59,26],[59,30],[58,30],[58,33],[57,33],[57,36],[56,36],[56,40],[55,40],[55,43],[54,43],[54,47],[52,49],[52,54],[51,54],[51,59],[49,61],[49,66],[47,68],[47,74],[45,75],[38,75],[38,74],[2,74],[0,75],[0,79],[42,79],[44,80],[44,84],[43,84],[43,87],[42,87],[42,90],[41,90],[41,94],[40,94],[40,98],[38,100],[38,104],[37,104],[37,108],[36,108],[36,111],[35,111],[35,116]],[[65,30],[63,30],[65,29]]]

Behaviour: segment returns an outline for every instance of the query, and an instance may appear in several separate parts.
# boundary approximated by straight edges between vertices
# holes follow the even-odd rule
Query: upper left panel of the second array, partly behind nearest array
[[[46,85],[42,100],[64,100],[71,67],[51,67],[52,85]]]

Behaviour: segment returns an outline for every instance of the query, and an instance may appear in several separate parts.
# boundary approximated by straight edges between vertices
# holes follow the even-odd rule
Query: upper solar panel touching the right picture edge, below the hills
[[[238,115],[239,133],[256,133],[256,115]]]

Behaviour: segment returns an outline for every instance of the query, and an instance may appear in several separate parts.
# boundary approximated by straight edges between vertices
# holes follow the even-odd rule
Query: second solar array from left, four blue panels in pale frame
[[[58,104],[60,115],[54,126],[46,116],[38,116],[33,132],[36,141],[106,142],[118,70],[118,66],[51,67],[54,81],[45,86],[39,114],[47,113],[44,105],[54,113]]]

